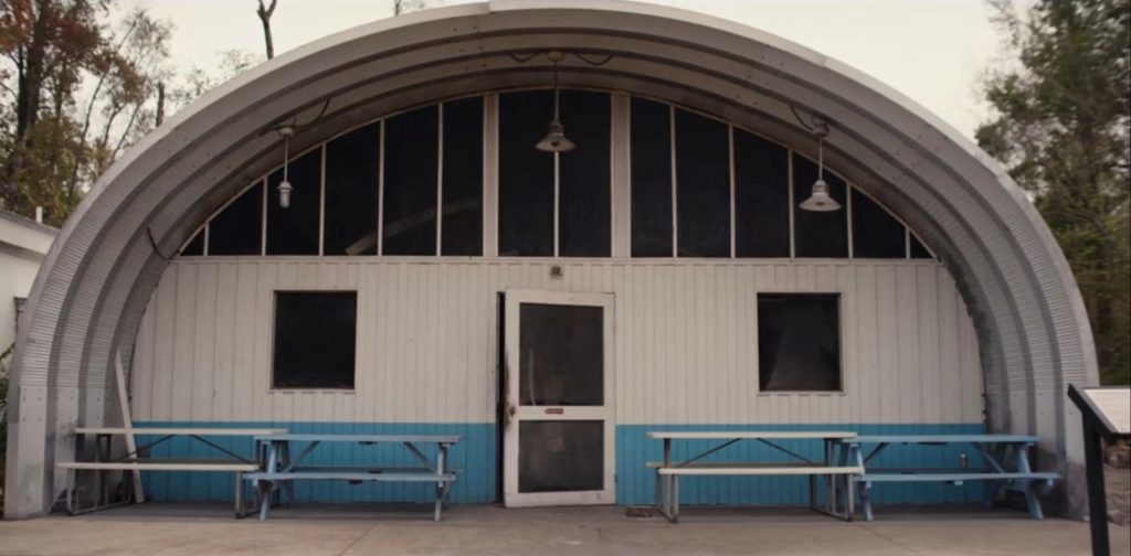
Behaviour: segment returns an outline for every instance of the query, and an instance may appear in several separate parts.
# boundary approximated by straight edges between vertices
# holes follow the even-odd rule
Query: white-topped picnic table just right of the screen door
[[[726,432],[649,432],[649,438],[664,442],[664,461],[649,462],[648,467],[656,469],[656,510],[672,523],[680,520],[680,477],[681,476],[808,476],[809,505],[811,509],[851,520],[853,515],[852,481],[848,484],[848,496],[844,501],[845,510],[839,511],[837,488],[832,480],[836,476],[856,475],[863,471],[858,466],[844,462],[837,463],[836,450],[838,442],[856,436],[856,433],[843,431],[829,432],[778,432],[778,431],[726,431]],[[672,441],[722,441],[720,444],[706,450],[683,461],[672,460]],[[805,458],[779,444],[779,441],[820,441],[822,458],[819,461]],[[720,462],[702,461],[741,441],[754,441],[765,444],[789,457],[786,461],[740,461]],[[823,506],[818,505],[817,478],[824,477]]]

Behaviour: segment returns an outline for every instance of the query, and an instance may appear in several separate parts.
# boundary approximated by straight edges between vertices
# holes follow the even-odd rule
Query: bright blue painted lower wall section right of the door
[[[956,425],[621,425],[616,427],[616,503],[651,504],[656,489],[655,471],[648,461],[664,459],[663,442],[645,436],[649,431],[852,431],[857,434],[979,434],[982,424]],[[688,459],[722,444],[720,441],[672,443],[672,459]],[[780,446],[805,458],[820,460],[818,441],[783,441]],[[874,460],[878,467],[957,468],[959,454],[968,455],[969,467],[983,466],[981,455],[969,445],[917,446],[891,445]],[[754,441],[742,441],[701,461],[788,461],[789,457]],[[872,499],[877,504],[940,504],[982,501],[982,485],[878,484]],[[680,503],[699,505],[803,505],[809,503],[806,477],[683,477]]]

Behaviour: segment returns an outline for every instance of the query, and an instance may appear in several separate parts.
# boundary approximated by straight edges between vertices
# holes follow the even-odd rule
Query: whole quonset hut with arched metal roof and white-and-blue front
[[[819,175],[837,210],[802,206]],[[457,503],[646,503],[647,429],[831,427],[1037,434],[1076,509],[1064,391],[1097,382],[1060,249],[966,138],[782,38],[604,1],[422,11],[241,75],[98,181],[26,319],[8,518],[52,507],[76,425],[119,423],[119,353],[138,426],[460,434]],[[684,503],[803,502],[726,480]]]

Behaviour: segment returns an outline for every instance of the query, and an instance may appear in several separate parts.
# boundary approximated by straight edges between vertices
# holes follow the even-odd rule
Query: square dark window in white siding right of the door
[[[839,391],[837,294],[758,294],[761,391]]]

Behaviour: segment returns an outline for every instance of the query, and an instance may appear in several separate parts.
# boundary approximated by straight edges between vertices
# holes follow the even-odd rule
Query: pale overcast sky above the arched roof
[[[838,59],[903,92],[967,136],[986,115],[978,99],[979,76],[1001,57],[985,0],[651,1],[739,21]],[[217,53],[227,50],[264,51],[256,0],[121,3],[143,6],[173,23],[172,54],[182,69],[213,67]],[[271,18],[275,51],[389,17],[391,7],[392,0],[278,0]]]

